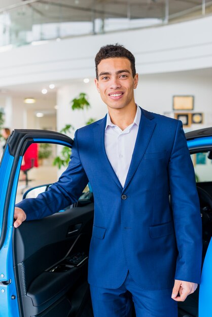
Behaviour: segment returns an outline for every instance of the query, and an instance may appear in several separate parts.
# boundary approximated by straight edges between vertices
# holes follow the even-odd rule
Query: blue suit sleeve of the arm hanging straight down
[[[178,247],[175,279],[200,283],[202,225],[194,168],[182,122],[178,122],[170,155],[169,186]]]

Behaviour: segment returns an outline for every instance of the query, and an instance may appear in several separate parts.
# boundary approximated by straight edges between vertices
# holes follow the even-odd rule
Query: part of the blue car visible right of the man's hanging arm
[[[197,191],[200,200],[200,211],[202,217],[202,274],[201,284],[199,287],[198,297],[195,294],[188,298],[192,299],[189,302],[189,311],[192,310],[195,300],[198,300],[198,312],[195,316],[211,317],[212,316],[212,301],[211,301],[211,283],[212,283],[212,128],[200,129],[186,133],[187,143],[190,152],[195,155],[192,159],[194,163],[196,177],[200,176],[201,181],[197,178]],[[203,157],[203,162],[198,162],[197,156],[200,159]],[[204,161],[205,160],[205,161]],[[188,300],[186,300],[188,301]],[[188,311],[187,310],[187,311]],[[187,314],[186,314],[187,315]],[[188,314],[189,315],[189,314]],[[192,314],[191,316],[193,316]],[[189,315],[190,316],[190,315]]]

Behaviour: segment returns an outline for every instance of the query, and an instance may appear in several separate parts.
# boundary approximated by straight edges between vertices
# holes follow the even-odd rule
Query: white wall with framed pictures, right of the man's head
[[[139,76],[135,99],[143,108],[160,114],[173,111],[174,95],[193,95],[194,110],[190,112],[204,113],[203,124],[194,124],[189,130],[212,126],[212,69],[206,75],[191,70]]]

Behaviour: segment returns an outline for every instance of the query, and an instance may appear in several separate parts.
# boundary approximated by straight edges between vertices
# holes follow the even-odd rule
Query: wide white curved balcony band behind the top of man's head
[[[212,16],[140,30],[80,36],[0,54],[0,87],[94,76],[100,46],[120,43],[135,55],[137,72],[212,67]]]

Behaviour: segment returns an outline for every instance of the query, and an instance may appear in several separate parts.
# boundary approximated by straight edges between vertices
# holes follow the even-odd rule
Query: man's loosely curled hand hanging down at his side
[[[196,283],[175,280],[171,298],[177,302],[183,302],[186,297],[194,293],[196,289]],[[180,294],[180,296],[178,294]]]

